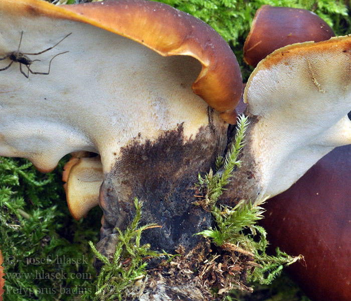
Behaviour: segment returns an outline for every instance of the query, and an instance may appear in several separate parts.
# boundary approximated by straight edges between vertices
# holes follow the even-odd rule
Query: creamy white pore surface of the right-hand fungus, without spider
[[[259,65],[246,87],[249,112],[259,116],[252,152],[262,198],[288,189],[335,146],[351,143],[351,60],[341,51],[310,52]]]

